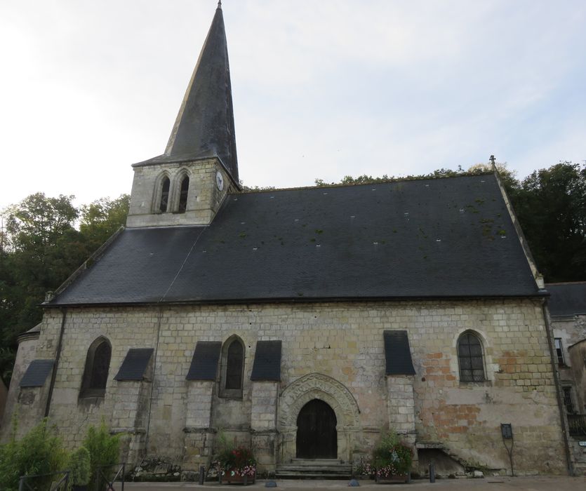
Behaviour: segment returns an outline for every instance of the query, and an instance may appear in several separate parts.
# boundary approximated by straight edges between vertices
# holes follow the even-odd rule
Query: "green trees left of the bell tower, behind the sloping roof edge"
[[[36,193],[1,213],[0,376],[6,384],[16,338],[41,321],[38,306],[45,293],[58,288],[126,221],[126,194],[80,208],[73,205],[73,198]]]

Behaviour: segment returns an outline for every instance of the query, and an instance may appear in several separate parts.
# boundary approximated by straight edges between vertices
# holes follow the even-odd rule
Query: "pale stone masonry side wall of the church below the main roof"
[[[51,351],[51,347],[54,351],[59,326],[58,313],[46,312],[40,351]],[[194,410],[198,405],[194,389],[189,389],[193,382],[185,380],[195,344],[225,342],[239,335],[246,350],[243,397],[220,398],[213,390],[212,429],[198,438],[206,440],[206,453],[218,428],[229,438],[248,442],[251,425],[259,424],[258,408],[269,414],[268,399],[262,396],[261,401],[253,394],[255,383],[250,380],[255,344],[281,339],[279,395],[300,377],[318,372],[342,384],[355,401],[356,421],[338,417],[347,424],[339,429],[345,438],[338,445],[345,452],[339,458],[352,460],[370,450],[392,419],[382,340],[382,332],[388,329],[408,331],[416,372],[413,411],[418,442],[441,443],[480,467],[507,469],[500,423],[512,423],[516,471],[564,472],[560,416],[538,300],[69,309],[50,419],[68,445],[79,445],[87,424],[116,417],[112,378],[128,349],[155,348],[146,452],[149,457],[182,464],[192,451],[186,448],[191,445],[187,436],[194,431],[186,428],[186,415],[192,419],[199,415]],[[484,343],[486,382],[459,382],[456,342],[469,329]],[[79,399],[86,351],[100,335],[112,343],[107,394],[101,400]],[[338,402],[335,410],[344,411],[346,403]],[[404,411],[401,407],[397,405],[399,413]],[[281,445],[279,436],[272,443],[267,436],[263,445],[266,455],[271,445]],[[275,455],[280,454],[276,451]],[[204,462],[204,457],[198,458],[190,465]]]

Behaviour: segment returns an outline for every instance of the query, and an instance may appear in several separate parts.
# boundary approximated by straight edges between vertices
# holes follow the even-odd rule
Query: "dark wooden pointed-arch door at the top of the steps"
[[[298,459],[337,459],[338,421],[333,409],[319,399],[305,404],[297,417]]]

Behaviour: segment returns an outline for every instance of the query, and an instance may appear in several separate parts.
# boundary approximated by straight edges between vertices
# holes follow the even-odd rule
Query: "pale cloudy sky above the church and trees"
[[[0,0],[0,210],[131,191],[214,0]],[[241,180],[586,159],[583,0],[224,0]]]

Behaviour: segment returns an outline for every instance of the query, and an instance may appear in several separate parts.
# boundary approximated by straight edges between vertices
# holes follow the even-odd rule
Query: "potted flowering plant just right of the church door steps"
[[[411,477],[413,451],[405,445],[394,431],[380,439],[373,450],[372,468],[377,483],[381,481],[406,482]]]

